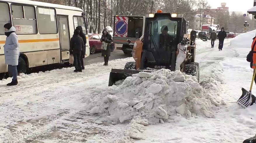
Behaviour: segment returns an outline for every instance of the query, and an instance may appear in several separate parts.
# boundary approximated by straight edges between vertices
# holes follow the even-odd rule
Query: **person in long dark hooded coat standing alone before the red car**
[[[104,57],[104,66],[108,66],[109,62],[109,57],[110,57],[110,52],[111,52],[111,47],[110,43],[113,41],[112,36],[108,33],[107,28],[104,28],[102,31],[102,36],[100,38],[101,42],[106,42],[107,43],[107,50],[101,50],[101,55]]]

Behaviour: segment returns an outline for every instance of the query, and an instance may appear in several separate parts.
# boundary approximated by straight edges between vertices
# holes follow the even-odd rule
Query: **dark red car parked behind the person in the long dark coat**
[[[102,34],[95,34],[95,33],[89,33],[88,39],[89,39],[89,45],[90,45],[90,54],[95,54],[96,52],[101,52],[101,38]],[[111,43],[111,52],[115,49],[115,44]]]

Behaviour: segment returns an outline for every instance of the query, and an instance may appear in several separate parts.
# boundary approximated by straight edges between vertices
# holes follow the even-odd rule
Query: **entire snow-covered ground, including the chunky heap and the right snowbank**
[[[211,48],[210,41],[197,39],[199,82],[161,69],[108,87],[111,68],[123,69],[133,58],[91,64],[83,73],[63,68],[20,74],[13,87],[5,86],[10,79],[0,81],[0,142],[243,142],[256,132],[256,105],[236,104],[253,73],[243,38],[254,36],[225,39],[222,51],[218,41]]]

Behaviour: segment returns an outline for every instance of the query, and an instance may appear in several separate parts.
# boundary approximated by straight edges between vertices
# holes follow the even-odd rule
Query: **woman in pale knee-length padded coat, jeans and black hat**
[[[18,84],[17,80],[17,66],[19,62],[20,50],[18,47],[18,37],[15,34],[15,27],[11,23],[6,23],[4,25],[6,41],[4,45],[4,56],[5,64],[8,65],[8,70],[12,72],[13,79],[11,83],[8,83],[7,86],[13,86]]]

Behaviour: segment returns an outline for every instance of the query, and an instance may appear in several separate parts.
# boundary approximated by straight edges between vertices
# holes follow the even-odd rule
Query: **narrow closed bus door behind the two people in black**
[[[60,35],[60,61],[69,60],[69,24],[68,16],[58,15],[59,35]]]

